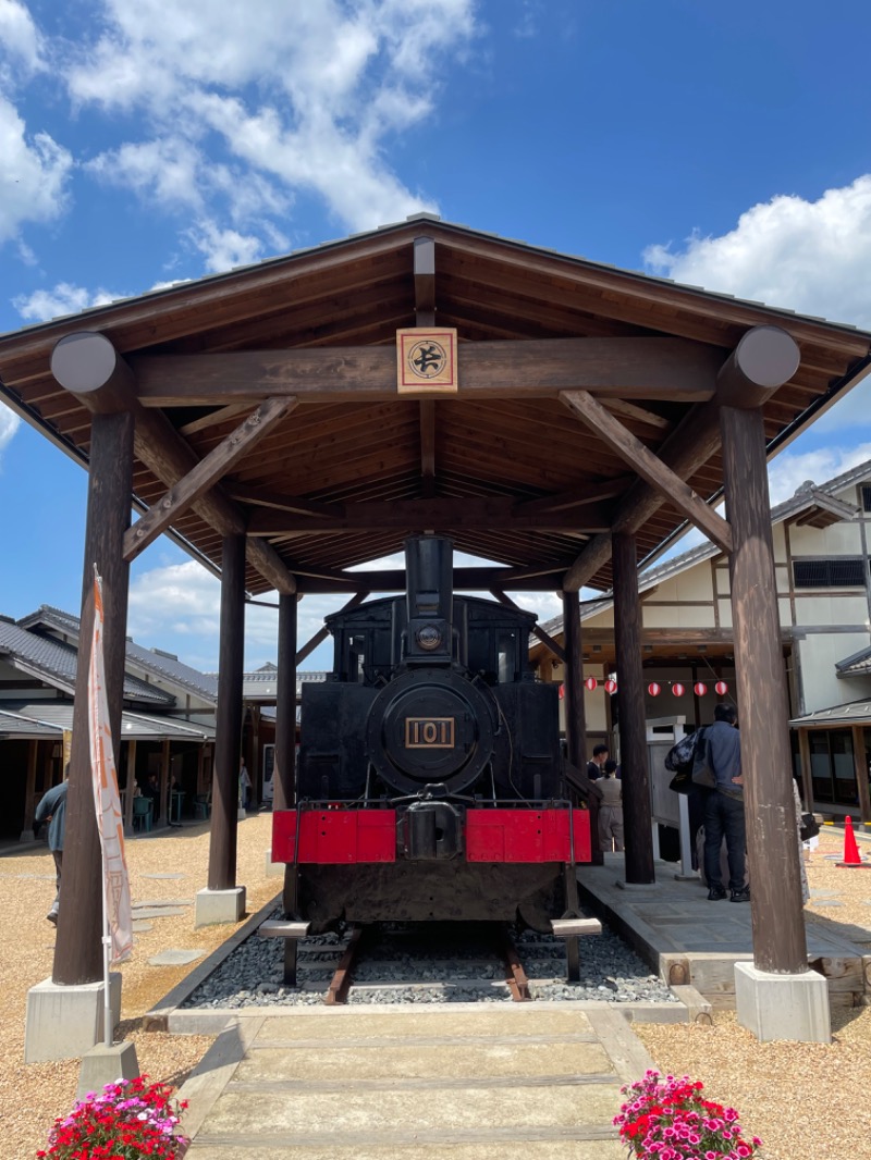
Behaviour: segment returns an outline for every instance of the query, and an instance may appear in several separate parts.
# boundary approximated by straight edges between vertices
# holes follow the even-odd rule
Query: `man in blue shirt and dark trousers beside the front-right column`
[[[749,902],[750,887],[744,878],[747,829],[741,774],[741,735],[737,731],[737,710],[734,705],[724,703],[714,709],[714,723],[705,730],[705,745],[717,780],[715,788],[706,790],[704,805],[707,897],[712,902],[726,898],[720,869],[720,847],[725,838],[730,901]]]

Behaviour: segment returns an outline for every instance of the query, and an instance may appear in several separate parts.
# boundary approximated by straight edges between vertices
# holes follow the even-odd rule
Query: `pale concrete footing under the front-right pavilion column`
[[[735,963],[735,1010],[741,1027],[761,1043],[832,1042],[828,984],[816,971],[772,974],[753,963]]]

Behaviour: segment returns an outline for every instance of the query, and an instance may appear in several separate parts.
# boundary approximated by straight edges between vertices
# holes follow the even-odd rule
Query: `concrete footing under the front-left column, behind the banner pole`
[[[121,1020],[121,972],[109,974],[113,1031]],[[106,1037],[105,986],[82,983],[65,987],[44,979],[27,993],[24,1063],[74,1059]]]

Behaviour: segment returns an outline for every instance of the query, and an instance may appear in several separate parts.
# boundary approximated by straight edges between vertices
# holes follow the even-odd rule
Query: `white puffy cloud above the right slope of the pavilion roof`
[[[678,282],[871,327],[871,175],[815,202],[773,197],[722,237],[649,246],[645,261]]]

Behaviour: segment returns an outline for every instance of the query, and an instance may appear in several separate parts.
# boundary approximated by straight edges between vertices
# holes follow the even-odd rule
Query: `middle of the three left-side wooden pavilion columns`
[[[221,647],[215,774],[211,783],[209,890],[236,889],[244,647],[245,537],[225,536],[221,560]]]

